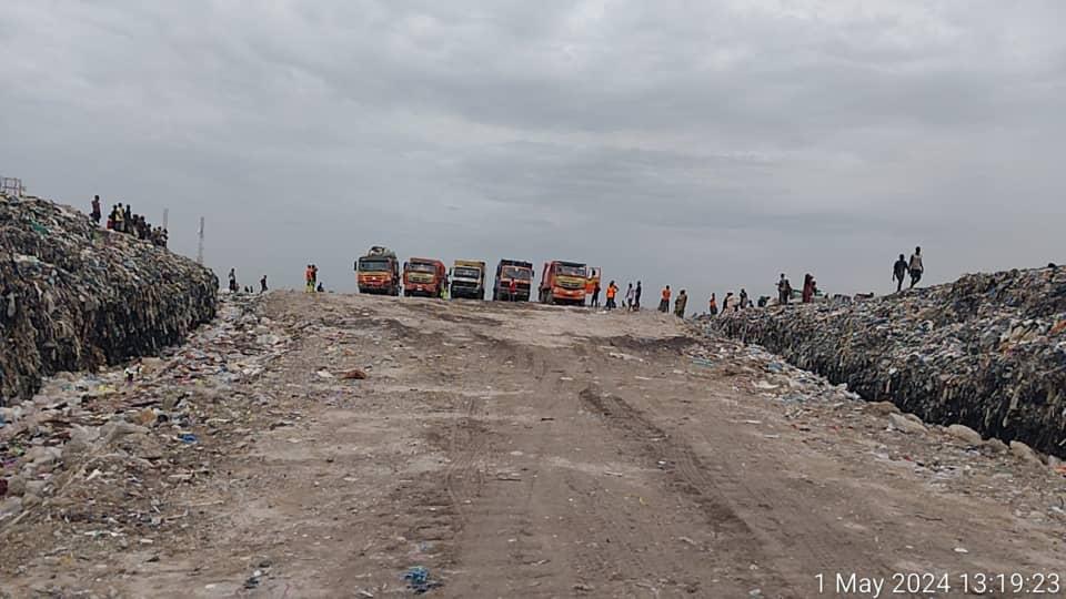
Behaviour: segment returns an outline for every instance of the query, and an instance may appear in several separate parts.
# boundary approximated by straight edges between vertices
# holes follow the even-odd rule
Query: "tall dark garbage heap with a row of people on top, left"
[[[41,378],[155,355],[214,317],[218,278],[69,206],[0,195],[0,406]]]

